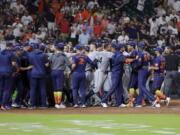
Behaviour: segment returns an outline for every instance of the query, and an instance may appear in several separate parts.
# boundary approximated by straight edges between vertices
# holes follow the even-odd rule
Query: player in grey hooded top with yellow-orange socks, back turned
[[[62,104],[62,92],[64,87],[64,70],[66,66],[70,67],[70,62],[66,55],[62,52],[64,49],[64,43],[58,43],[56,46],[55,53],[49,57],[51,64],[51,76],[54,88],[54,101],[55,108],[66,108]]]

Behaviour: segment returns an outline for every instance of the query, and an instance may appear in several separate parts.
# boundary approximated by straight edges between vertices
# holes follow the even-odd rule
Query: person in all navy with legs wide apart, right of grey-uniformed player
[[[125,50],[124,44],[113,45],[114,54],[112,56],[112,87],[108,91],[107,95],[102,99],[102,107],[108,107],[107,101],[108,98],[115,93],[115,100],[117,107],[126,107],[122,102],[123,98],[123,85],[122,85],[122,76],[123,76],[123,66],[126,61],[123,51]]]

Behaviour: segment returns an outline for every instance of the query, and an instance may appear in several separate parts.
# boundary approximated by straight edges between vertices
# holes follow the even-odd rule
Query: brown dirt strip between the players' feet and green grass
[[[180,100],[171,101],[170,105],[161,108],[117,108],[117,107],[88,107],[88,108],[66,108],[66,109],[12,109],[0,111],[0,114],[180,114]]]

